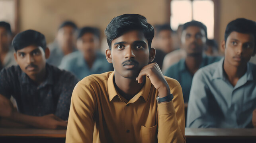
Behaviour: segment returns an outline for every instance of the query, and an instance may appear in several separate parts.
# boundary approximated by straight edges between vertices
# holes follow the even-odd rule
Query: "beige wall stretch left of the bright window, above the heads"
[[[111,19],[126,13],[142,14],[148,22],[166,22],[166,0],[20,0],[20,31],[35,29],[54,40],[59,24],[67,19],[79,27],[97,26],[103,31]]]

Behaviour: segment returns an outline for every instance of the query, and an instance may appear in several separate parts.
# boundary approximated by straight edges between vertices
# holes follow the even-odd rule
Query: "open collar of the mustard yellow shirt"
[[[113,77],[114,77],[114,72],[112,72],[107,79],[107,91],[108,91],[108,96],[109,96],[109,102],[111,102],[111,100],[115,96],[119,96],[119,94],[117,93],[117,91],[115,89]],[[149,97],[150,89],[151,89],[151,82],[150,82],[149,77],[146,76],[146,81],[145,81],[144,86],[139,91],[139,93],[137,93],[131,100],[129,100],[128,103],[133,103],[133,102],[137,101],[139,99],[139,97],[143,97],[143,99],[145,101],[147,101],[148,97]]]

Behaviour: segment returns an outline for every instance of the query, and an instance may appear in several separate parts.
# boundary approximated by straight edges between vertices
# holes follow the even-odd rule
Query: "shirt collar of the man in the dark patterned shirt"
[[[39,87],[44,87],[47,84],[50,84],[50,85],[53,84],[53,68],[50,67],[49,64],[47,63],[45,65],[45,68],[46,68],[47,77],[46,77],[46,80],[39,85]],[[31,79],[23,71],[21,73],[21,81],[22,81],[22,84],[32,83]]]

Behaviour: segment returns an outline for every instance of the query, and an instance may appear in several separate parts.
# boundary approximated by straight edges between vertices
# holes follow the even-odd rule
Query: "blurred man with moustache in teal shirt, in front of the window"
[[[219,61],[219,57],[203,55],[206,48],[207,28],[199,21],[190,21],[183,25],[182,47],[186,58],[170,66],[164,75],[179,81],[184,102],[188,102],[194,73],[203,66]]]

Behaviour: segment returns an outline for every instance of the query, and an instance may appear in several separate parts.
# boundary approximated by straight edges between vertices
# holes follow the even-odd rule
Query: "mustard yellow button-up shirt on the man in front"
[[[66,143],[184,143],[182,89],[165,77],[174,99],[157,104],[158,91],[145,85],[127,101],[115,90],[114,72],[90,75],[74,88]]]

